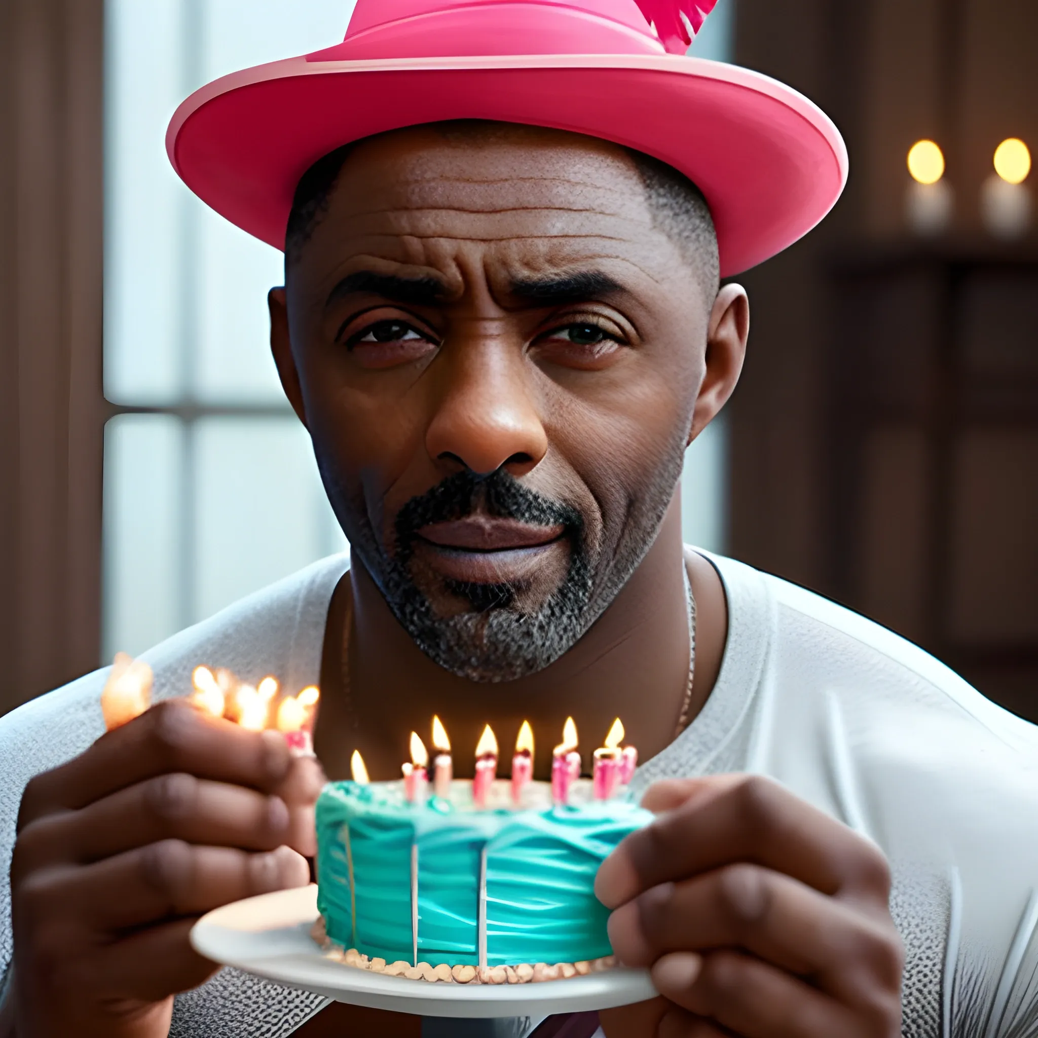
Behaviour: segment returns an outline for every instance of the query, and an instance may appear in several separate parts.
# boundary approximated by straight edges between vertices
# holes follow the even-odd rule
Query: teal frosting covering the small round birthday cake
[[[318,906],[333,940],[411,961],[417,846],[418,959],[475,964],[486,848],[489,965],[598,958],[611,952],[608,912],[594,892],[598,867],[652,817],[625,799],[476,811],[437,799],[409,804],[400,783],[330,783],[317,807]]]

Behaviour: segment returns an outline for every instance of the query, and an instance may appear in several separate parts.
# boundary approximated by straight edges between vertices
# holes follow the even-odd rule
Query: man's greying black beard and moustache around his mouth
[[[611,543],[597,547],[589,544],[588,524],[575,507],[530,490],[503,469],[490,475],[461,471],[412,497],[397,515],[391,552],[366,522],[350,523],[353,529],[347,532],[393,616],[427,656],[471,681],[515,681],[569,651],[645,557],[681,475],[684,443],[664,454],[639,499],[627,499],[622,525],[606,538]],[[415,579],[418,530],[477,511],[529,525],[562,526],[569,558],[554,590],[535,596],[539,600],[530,604],[528,588],[439,578],[462,609],[449,616],[436,609]],[[358,512],[364,514],[361,509],[354,515]],[[604,564],[603,553],[608,555]]]

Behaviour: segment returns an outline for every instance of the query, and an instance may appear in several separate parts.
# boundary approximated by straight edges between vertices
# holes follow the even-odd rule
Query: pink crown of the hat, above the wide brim
[[[716,0],[357,0],[311,61],[684,53]]]

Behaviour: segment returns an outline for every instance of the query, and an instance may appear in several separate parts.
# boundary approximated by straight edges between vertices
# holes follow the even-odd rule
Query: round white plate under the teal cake
[[[417,1016],[535,1016],[611,1009],[656,996],[646,969],[608,969],[541,984],[430,984],[326,958],[310,937],[313,884],[263,894],[203,916],[191,930],[208,959],[336,1002]]]

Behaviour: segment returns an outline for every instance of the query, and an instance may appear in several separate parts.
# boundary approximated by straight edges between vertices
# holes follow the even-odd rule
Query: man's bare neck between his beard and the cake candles
[[[349,756],[357,748],[373,778],[399,777],[410,732],[418,732],[429,746],[434,713],[450,736],[459,776],[471,775],[475,743],[486,723],[497,734],[501,773],[507,774],[516,733],[528,719],[537,739],[535,774],[547,777],[551,749],[568,715],[577,723],[585,768],[591,752],[601,745],[618,716],[627,729],[626,741],[648,760],[674,738],[688,685],[683,566],[681,515],[675,502],[646,557],[573,648],[535,675],[486,684],[450,674],[426,656],[355,559],[349,586],[339,588],[352,595],[347,639],[342,637],[342,623],[349,610],[337,610],[343,618],[337,629],[336,610],[329,613],[332,636],[330,649],[326,647],[328,673],[322,675],[325,696],[316,734],[329,776],[347,777]],[[334,648],[344,640],[349,643],[348,690],[336,680],[342,651]],[[708,692],[696,687],[693,713]]]

